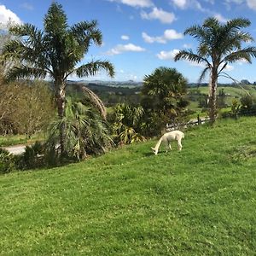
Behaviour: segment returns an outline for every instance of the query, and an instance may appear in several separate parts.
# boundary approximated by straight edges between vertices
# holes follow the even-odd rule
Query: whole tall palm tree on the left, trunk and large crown
[[[20,66],[9,69],[7,80],[53,79],[55,102],[60,119],[65,118],[67,78],[95,75],[103,69],[113,77],[113,65],[108,61],[90,61],[78,67],[88,53],[90,45],[102,44],[102,32],[96,20],[67,25],[67,15],[61,4],[53,2],[44,17],[44,31],[31,24],[12,26],[9,30],[15,39],[5,45],[5,59],[20,60]],[[91,94],[90,96],[94,96]],[[96,100],[97,102],[97,100]],[[60,126],[61,154],[65,153],[65,122]]]

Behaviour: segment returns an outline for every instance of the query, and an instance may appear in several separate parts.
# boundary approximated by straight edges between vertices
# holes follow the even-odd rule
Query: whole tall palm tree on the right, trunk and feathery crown
[[[215,18],[208,18],[202,26],[195,25],[185,30],[185,35],[190,35],[198,40],[199,46],[196,53],[192,49],[180,50],[175,56],[175,61],[181,59],[204,63],[200,82],[207,72],[210,73],[209,82],[209,106],[210,119],[214,123],[217,115],[216,92],[218,77],[224,74],[224,69],[229,63],[245,60],[252,62],[256,56],[256,48],[248,46],[242,48],[242,43],[253,41],[248,32],[242,32],[241,28],[250,26],[250,20],[238,18],[220,24]]]

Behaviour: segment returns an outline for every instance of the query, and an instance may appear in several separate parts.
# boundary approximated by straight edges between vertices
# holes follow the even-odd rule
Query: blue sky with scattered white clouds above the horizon
[[[51,3],[51,0],[0,0],[0,23],[11,19],[43,29],[44,15]],[[180,49],[196,50],[198,42],[183,32],[212,16],[220,22],[239,17],[251,20],[251,26],[244,31],[256,40],[256,0],[59,0],[57,3],[66,12],[69,25],[82,20],[98,21],[102,46],[91,45],[80,64],[108,60],[113,63],[115,77],[110,79],[101,72],[85,79],[139,82],[157,67],[175,67],[189,83],[196,83],[203,67],[189,61],[175,62],[173,56]],[[256,46],[256,42],[243,46],[248,45]],[[225,71],[233,79],[253,83],[256,59],[252,64],[232,63]],[[224,78],[218,81],[232,82]]]

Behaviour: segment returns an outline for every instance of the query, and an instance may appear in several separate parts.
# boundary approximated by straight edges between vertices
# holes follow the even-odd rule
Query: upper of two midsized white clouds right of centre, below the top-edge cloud
[[[150,13],[142,11],[141,17],[144,20],[160,20],[162,23],[172,23],[172,21],[176,20],[173,13],[166,12],[165,10],[156,7],[154,7]]]

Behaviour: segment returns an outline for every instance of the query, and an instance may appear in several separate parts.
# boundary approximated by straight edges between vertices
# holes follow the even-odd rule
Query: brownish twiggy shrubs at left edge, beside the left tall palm
[[[0,84],[0,134],[32,137],[55,115],[52,91],[44,82]]]

